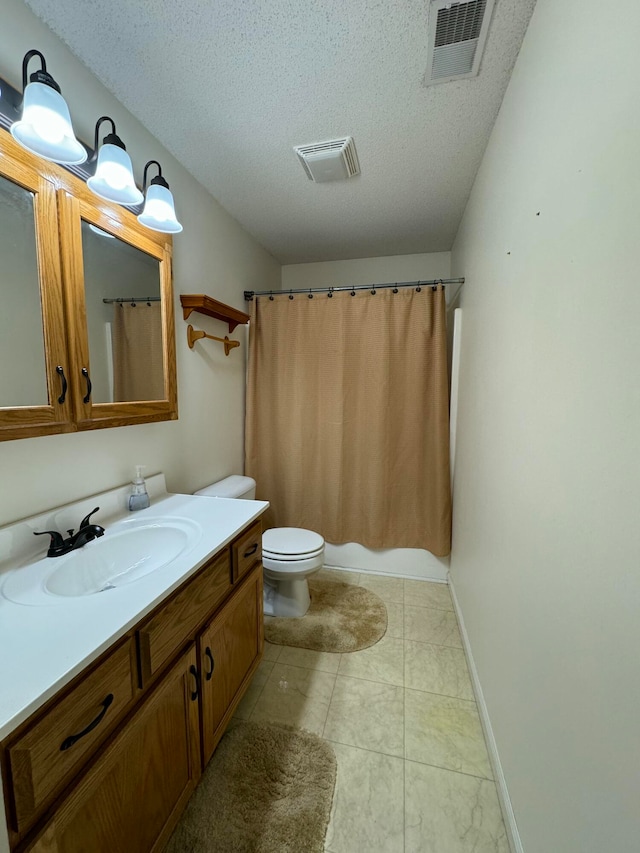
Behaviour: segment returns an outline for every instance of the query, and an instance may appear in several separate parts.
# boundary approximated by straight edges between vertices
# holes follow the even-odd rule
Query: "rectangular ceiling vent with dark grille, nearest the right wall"
[[[494,0],[431,0],[425,85],[475,77]]]

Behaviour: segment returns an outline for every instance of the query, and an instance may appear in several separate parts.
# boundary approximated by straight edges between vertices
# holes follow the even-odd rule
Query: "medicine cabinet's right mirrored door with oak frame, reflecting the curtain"
[[[175,417],[170,245],[128,212],[60,198],[79,427]]]

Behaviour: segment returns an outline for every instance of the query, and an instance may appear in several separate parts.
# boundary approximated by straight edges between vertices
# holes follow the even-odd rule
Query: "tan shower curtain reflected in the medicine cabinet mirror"
[[[113,389],[117,403],[164,399],[159,302],[114,305]]]

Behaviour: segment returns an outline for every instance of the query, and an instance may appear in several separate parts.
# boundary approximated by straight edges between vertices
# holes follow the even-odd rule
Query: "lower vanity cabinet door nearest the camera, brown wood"
[[[200,776],[195,665],[191,646],[27,850],[162,849]]]

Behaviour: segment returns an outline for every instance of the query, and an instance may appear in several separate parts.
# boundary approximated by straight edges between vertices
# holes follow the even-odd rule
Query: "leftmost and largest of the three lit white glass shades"
[[[54,163],[84,163],[87,152],[71,127],[67,102],[45,83],[29,83],[24,90],[22,118],[11,125],[11,135],[23,148]]]

